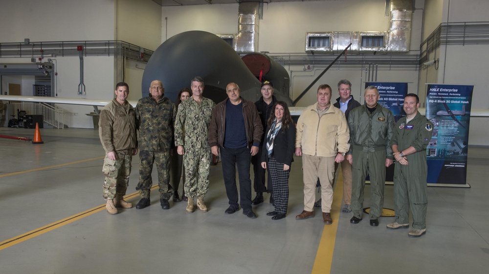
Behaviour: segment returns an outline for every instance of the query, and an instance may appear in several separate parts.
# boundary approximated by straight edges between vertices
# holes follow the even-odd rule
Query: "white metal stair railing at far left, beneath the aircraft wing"
[[[42,115],[43,121],[55,128],[64,128],[67,115],[73,114],[57,105],[52,106],[46,103],[11,102],[10,104],[15,114],[17,110],[23,110],[28,115]]]

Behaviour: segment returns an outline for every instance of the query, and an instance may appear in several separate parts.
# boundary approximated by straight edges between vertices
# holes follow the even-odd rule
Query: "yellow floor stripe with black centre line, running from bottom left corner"
[[[156,188],[158,187],[158,185],[154,185],[151,187],[151,190],[155,190]],[[124,196],[124,199],[126,200],[129,200],[131,198],[133,198],[134,196],[139,196],[139,192],[134,192],[130,195],[126,195]],[[3,241],[3,242],[0,242],[0,250],[3,250],[7,247],[11,247],[13,245],[16,245],[18,243],[22,243],[23,241],[26,241],[30,238],[33,238],[35,236],[39,236],[39,235],[42,235],[46,232],[49,232],[53,229],[56,229],[56,228],[59,228],[59,227],[62,227],[64,225],[67,225],[69,223],[72,223],[76,220],[79,220],[81,218],[84,218],[84,217],[87,217],[89,215],[92,215],[94,213],[97,213],[99,211],[102,211],[105,209],[105,204],[102,204],[102,205],[99,205],[97,207],[94,207],[92,209],[89,209],[87,211],[84,211],[82,213],[79,213],[79,214],[76,214],[76,215],[72,215],[72,216],[69,216],[65,219],[62,219],[62,220],[59,220],[57,222],[54,222],[54,223],[51,223],[51,224],[48,224],[46,226],[43,226],[43,227],[40,227],[38,229],[35,229],[33,231],[29,231],[27,233],[24,233],[22,235],[19,235],[19,236],[16,236],[16,237],[13,237],[11,239],[8,239],[6,241]]]

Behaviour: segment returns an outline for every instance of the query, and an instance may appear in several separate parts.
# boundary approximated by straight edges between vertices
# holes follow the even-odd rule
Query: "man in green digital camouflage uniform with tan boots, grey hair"
[[[183,155],[185,166],[184,190],[188,197],[186,211],[194,212],[194,197],[197,207],[207,212],[204,196],[209,189],[209,170],[212,160],[207,130],[216,105],[211,99],[202,97],[204,81],[195,77],[190,82],[192,97],[178,105],[175,122],[175,145],[177,152]]]

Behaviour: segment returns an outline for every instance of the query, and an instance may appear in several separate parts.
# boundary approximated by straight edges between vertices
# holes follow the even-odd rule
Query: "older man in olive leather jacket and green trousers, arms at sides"
[[[350,222],[362,220],[365,176],[370,176],[370,225],[378,226],[384,204],[385,168],[393,162],[391,138],[394,126],[392,112],[377,103],[380,95],[375,86],[365,89],[365,104],[350,112],[350,151],[346,158],[352,164],[352,212]]]

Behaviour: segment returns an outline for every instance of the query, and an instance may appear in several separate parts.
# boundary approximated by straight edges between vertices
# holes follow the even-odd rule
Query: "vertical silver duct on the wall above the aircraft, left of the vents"
[[[258,29],[261,2],[240,2],[238,8],[238,33],[234,50],[238,53],[258,51]]]

